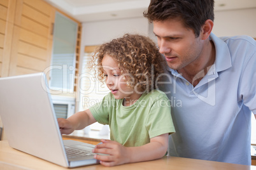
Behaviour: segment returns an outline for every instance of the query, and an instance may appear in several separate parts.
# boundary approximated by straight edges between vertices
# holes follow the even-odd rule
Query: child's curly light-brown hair
[[[96,48],[90,60],[99,81],[104,82],[102,60],[109,55],[118,63],[127,86],[140,92],[155,89],[155,81],[164,72],[164,59],[155,43],[138,34],[125,34]]]

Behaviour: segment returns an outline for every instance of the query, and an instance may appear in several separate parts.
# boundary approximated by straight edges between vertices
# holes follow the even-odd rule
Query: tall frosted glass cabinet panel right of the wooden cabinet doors
[[[56,12],[53,30],[50,89],[73,93],[77,32],[78,23]]]

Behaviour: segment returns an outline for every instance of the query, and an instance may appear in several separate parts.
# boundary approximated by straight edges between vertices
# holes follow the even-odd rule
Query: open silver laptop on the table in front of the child
[[[44,73],[0,78],[0,117],[12,148],[63,167],[99,164],[91,153],[95,145],[62,141]],[[68,149],[85,154],[70,157]]]

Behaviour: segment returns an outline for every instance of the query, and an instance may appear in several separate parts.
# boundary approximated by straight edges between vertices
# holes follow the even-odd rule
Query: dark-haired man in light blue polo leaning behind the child
[[[213,0],[152,0],[144,13],[169,66],[162,90],[176,133],[168,153],[250,165],[256,42],[211,33],[213,7]]]

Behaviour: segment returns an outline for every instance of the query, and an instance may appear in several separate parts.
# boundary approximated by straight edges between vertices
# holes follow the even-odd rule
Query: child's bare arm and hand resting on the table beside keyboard
[[[156,136],[141,147],[124,147],[116,141],[102,140],[103,144],[97,145],[93,152],[108,155],[94,155],[94,158],[104,166],[159,159],[166,154],[168,136],[168,133]]]

